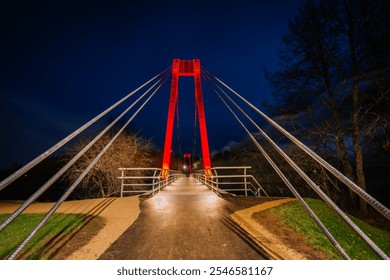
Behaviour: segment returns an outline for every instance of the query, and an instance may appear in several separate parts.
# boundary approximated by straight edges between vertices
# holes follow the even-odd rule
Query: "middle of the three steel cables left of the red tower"
[[[101,131],[92,141],[88,143],[77,155],[75,155],[66,165],[64,165],[56,174],[54,174],[42,187],[40,187],[32,196],[30,196],[18,209],[16,209],[1,225],[0,232],[6,228],[16,217],[18,217],[31,203],[40,197],[47,189],[49,189],[55,181],[57,181],[84,153],[91,148],[108,130],[110,130],[125,114],[129,112],[142,98],[145,97],[158,83],[165,77],[159,79],[148,90],[146,90],[137,100],[135,100],[126,110],[124,110],[114,121],[112,121],[103,131]]]

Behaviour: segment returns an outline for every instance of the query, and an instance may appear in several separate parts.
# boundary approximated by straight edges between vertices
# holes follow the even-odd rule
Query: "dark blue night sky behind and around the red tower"
[[[172,64],[204,68],[258,106],[263,71],[301,1],[0,2],[0,168],[25,163]],[[183,152],[192,143],[193,82],[180,79]],[[203,84],[210,150],[243,137]],[[169,83],[132,127],[162,147]]]

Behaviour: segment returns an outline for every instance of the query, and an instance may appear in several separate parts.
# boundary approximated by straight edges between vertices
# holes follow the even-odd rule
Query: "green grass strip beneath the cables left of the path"
[[[22,214],[0,232],[0,259],[6,259],[11,255],[44,215]],[[9,214],[0,214],[0,223],[8,216]],[[27,243],[21,254],[24,254],[27,259],[47,259],[50,247],[55,246],[63,234],[81,228],[85,217],[82,214],[54,214]]]

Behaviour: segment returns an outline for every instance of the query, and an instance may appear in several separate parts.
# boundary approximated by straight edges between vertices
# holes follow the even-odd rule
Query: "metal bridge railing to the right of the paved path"
[[[224,166],[211,168],[212,176],[207,176],[204,170],[194,172],[194,177],[202,184],[217,193],[233,192],[254,196],[268,196],[259,181],[248,174],[251,166]],[[238,171],[238,172],[237,172]]]

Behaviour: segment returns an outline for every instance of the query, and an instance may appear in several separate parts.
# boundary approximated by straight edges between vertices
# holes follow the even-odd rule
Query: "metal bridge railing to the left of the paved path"
[[[119,170],[121,171],[121,176],[118,177],[121,180],[121,197],[124,194],[155,195],[183,176],[179,171],[170,170],[168,177],[163,179],[161,176],[162,169],[153,167],[119,168]]]

